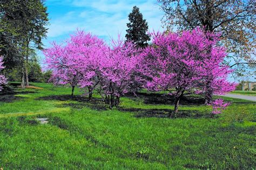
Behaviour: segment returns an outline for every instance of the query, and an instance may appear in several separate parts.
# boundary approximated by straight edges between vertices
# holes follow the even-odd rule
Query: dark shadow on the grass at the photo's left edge
[[[37,93],[37,92],[31,92],[31,91],[15,91],[17,90],[18,86],[12,86],[12,83],[10,86],[5,86],[3,90],[0,92],[0,102],[5,102],[5,103],[11,103],[14,100],[19,100],[24,97],[18,97],[15,96],[16,94],[29,94],[29,93]]]

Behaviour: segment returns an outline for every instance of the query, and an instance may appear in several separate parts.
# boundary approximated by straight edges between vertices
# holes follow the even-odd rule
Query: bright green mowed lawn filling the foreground
[[[181,102],[180,116],[168,96],[143,91],[108,110],[94,96],[70,98],[68,87],[0,95],[0,168],[3,169],[253,169],[256,103],[232,101],[223,114],[198,97]],[[35,118],[49,118],[39,124]]]

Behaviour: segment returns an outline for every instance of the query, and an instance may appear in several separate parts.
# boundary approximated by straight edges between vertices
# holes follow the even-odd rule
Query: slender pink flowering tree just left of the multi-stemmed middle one
[[[107,49],[102,39],[84,31],[77,31],[66,45],[69,57],[76,63],[72,68],[80,75],[79,87],[87,87],[89,99],[92,98],[93,89],[99,83],[100,60],[105,56]]]

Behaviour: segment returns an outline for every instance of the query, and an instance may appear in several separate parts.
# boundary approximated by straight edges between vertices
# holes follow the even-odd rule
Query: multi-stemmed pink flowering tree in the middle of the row
[[[119,104],[120,97],[142,86],[144,80],[137,71],[139,49],[131,42],[120,38],[112,40],[112,46],[100,61],[100,81],[97,91],[110,108]]]

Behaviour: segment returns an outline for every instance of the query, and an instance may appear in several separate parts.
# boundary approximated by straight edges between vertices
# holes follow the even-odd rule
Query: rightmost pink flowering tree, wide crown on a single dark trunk
[[[149,79],[147,89],[169,91],[174,96],[174,115],[185,92],[203,94],[210,88],[223,94],[234,90],[235,85],[226,80],[231,70],[221,64],[226,54],[223,47],[216,46],[217,35],[194,29],[152,36],[152,46],[141,55],[140,72]],[[206,87],[209,76],[210,87]]]

